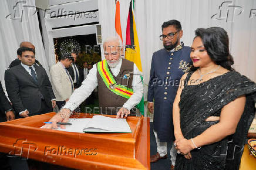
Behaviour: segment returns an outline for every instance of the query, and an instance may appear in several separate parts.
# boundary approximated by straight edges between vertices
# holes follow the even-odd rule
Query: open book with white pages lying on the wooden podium
[[[94,115],[92,118],[70,118],[65,129],[58,128],[60,131],[67,132],[120,132],[131,133],[129,124],[125,118],[111,118],[103,115]]]

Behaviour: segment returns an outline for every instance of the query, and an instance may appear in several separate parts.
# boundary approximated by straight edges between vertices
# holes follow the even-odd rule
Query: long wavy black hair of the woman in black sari
[[[202,39],[204,48],[216,64],[227,70],[234,71],[231,67],[234,64],[234,59],[229,50],[228,34],[223,28],[198,28],[195,33],[195,38],[200,37]],[[198,67],[191,67],[191,71],[197,69]]]

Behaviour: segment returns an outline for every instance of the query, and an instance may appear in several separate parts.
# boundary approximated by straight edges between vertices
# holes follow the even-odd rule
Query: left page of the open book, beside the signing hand
[[[54,130],[83,133],[83,128],[85,128],[91,120],[92,118],[70,118],[68,123],[71,123],[72,125],[65,125],[65,129],[60,128],[58,125],[58,129]]]

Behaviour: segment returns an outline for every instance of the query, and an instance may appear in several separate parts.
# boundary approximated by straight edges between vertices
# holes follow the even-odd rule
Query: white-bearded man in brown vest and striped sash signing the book
[[[105,58],[93,65],[82,86],[76,89],[70,100],[53,116],[52,124],[44,128],[57,128],[56,122],[66,122],[70,114],[90,93],[99,86],[99,112],[116,114],[117,118],[127,117],[130,110],[139,104],[143,96],[142,73],[136,64],[123,59],[122,42],[119,38],[107,38],[103,43]]]

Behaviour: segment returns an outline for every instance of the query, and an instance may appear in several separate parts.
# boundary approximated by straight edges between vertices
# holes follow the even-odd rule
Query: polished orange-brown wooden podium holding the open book
[[[132,133],[84,134],[40,128],[53,115],[0,123],[0,152],[75,169],[150,169],[149,118],[127,117]],[[92,116],[81,113],[79,118]]]

